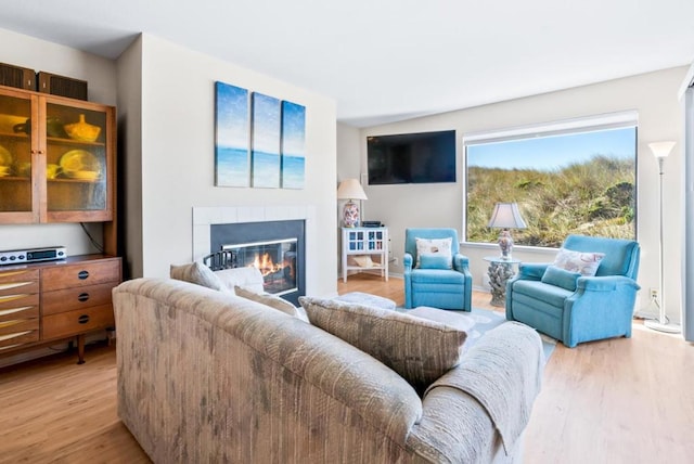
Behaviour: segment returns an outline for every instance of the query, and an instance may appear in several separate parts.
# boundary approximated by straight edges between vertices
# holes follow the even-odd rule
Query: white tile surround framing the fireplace
[[[306,275],[314,272],[316,207],[303,206],[200,206],[193,207],[193,260],[202,261],[210,253],[213,224],[304,220],[306,233]]]

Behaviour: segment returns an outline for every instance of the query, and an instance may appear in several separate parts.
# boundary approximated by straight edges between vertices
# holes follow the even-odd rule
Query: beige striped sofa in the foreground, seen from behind
[[[305,302],[329,330],[336,320],[325,314],[335,310],[378,317],[347,302]],[[462,344],[455,366],[417,394],[380,351],[230,292],[139,279],[114,289],[114,308],[118,414],[155,463],[520,460],[543,365],[539,336],[522,324],[502,324],[467,350],[464,334],[453,335]],[[411,322],[389,312],[373,325]],[[349,324],[361,324],[361,340],[390,337],[368,319]],[[396,353],[397,343],[384,340]]]

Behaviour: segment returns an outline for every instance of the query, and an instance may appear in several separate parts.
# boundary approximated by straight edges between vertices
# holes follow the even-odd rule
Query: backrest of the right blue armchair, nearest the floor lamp
[[[595,275],[624,275],[637,280],[641,247],[639,242],[587,235],[568,235],[562,245],[583,253],[604,253]]]

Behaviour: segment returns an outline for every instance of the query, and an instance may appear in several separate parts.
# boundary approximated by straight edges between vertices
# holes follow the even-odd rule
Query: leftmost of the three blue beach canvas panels
[[[215,185],[250,183],[248,90],[215,82]]]

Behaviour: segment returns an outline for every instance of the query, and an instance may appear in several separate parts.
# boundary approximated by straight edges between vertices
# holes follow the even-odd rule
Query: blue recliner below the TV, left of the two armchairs
[[[437,261],[416,267],[416,239],[451,239],[452,269]],[[439,309],[472,309],[473,276],[470,260],[460,254],[455,229],[406,229],[404,307],[429,306]]]

